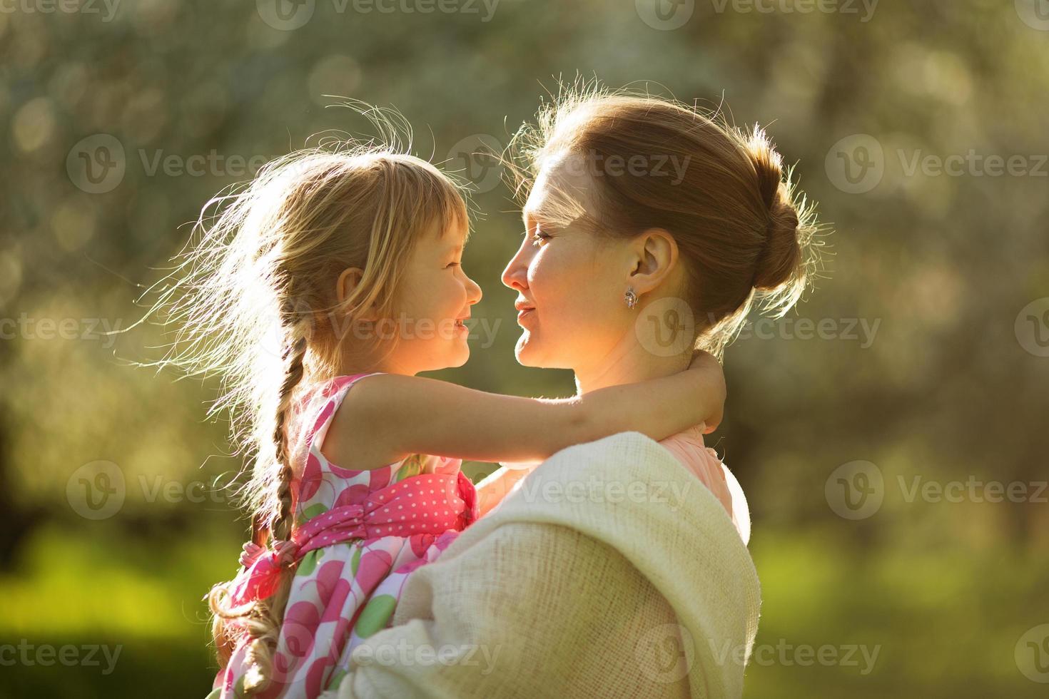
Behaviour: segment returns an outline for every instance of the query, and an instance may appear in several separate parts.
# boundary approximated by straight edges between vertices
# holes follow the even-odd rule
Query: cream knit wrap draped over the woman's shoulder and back
[[[740,697],[761,591],[725,508],[626,432],[543,462],[407,580],[350,697]]]

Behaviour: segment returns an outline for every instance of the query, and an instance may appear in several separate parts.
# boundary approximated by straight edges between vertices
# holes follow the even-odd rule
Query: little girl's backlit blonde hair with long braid
[[[208,216],[215,205],[220,213]],[[206,219],[209,223],[206,223]],[[338,375],[347,324],[366,309],[391,318],[395,292],[423,232],[466,226],[459,188],[429,162],[390,148],[349,145],[279,157],[247,187],[205,205],[199,240],[184,248],[153,310],[178,326],[169,356],[154,363],[221,377],[209,417],[229,411],[250,479],[236,492],[252,514],[254,543],[291,537],[297,399]],[[193,240],[191,239],[191,243]],[[339,302],[340,274],[363,276]],[[303,430],[300,430],[300,436]],[[297,455],[296,455],[297,456]],[[293,570],[269,598],[231,604],[231,583],[208,593],[220,668],[251,638],[245,692],[265,689]]]

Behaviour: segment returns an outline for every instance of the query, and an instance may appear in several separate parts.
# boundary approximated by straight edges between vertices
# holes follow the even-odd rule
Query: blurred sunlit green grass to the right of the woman
[[[868,550],[840,533],[797,530],[762,532],[751,551],[763,593],[755,647],[771,659],[748,667],[746,696],[796,697],[804,686],[807,696],[883,697],[903,684],[906,696],[1044,696],[1013,655],[1024,631],[1049,621],[1044,554],[961,541]],[[996,570],[1012,574],[988,574]],[[805,665],[793,650],[801,646],[878,655],[873,664],[857,651],[856,664]]]

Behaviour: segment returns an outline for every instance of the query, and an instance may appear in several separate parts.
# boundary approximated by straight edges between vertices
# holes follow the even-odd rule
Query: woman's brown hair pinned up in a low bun
[[[543,162],[562,154],[581,156],[600,175],[591,179],[597,213],[587,213],[578,193],[555,190],[543,218],[614,238],[649,228],[672,235],[699,349],[721,356],[755,299],[783,316],[820,269],[815,207],[796,193],[791,171],[785,178],[759,127],[745,133],[680,102],[577,84],[562,88],[507,149],[519,200]],[[669,176],[667,163],[683,167]]]

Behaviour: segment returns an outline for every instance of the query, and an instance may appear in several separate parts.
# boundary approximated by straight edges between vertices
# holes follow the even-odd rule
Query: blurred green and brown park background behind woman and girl
[[[767,125],[835,228],[815,292],[726,354],[745,696],[1046,696],[1046,0],[0,0],[0,696],[210,689],[200,598],[245,538],[217,387],[129,367],[155,326],[101,333],[211,195],[366,128],[324,95],[397,107],[478,192],[501,325],[437,375],[572,393],[514,362],[519,217],[474,153],[577,75]]]

